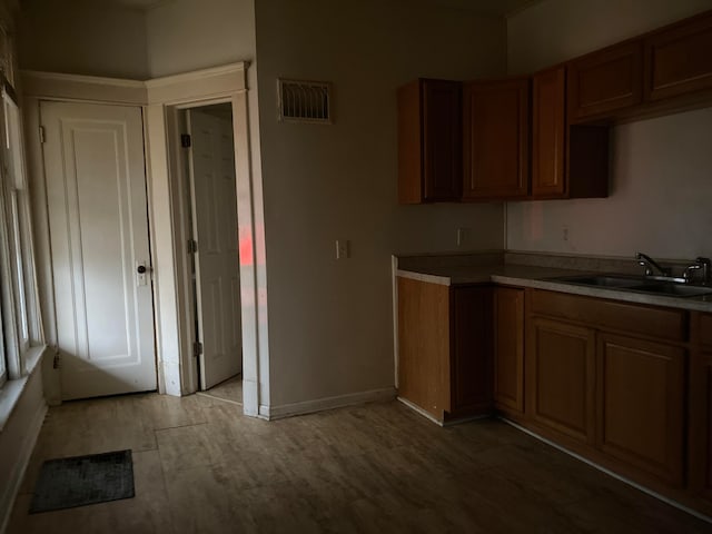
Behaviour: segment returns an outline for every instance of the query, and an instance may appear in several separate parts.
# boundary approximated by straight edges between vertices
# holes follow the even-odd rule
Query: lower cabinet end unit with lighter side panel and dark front
[[[439,422],[492,411],[492,288],[398,277],[398,395]]]

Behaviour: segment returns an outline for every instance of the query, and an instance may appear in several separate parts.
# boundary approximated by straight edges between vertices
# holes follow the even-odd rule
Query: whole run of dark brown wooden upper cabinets
[[[398,200],[609,195],[609,127],[712,105],[712,11],[532,77],[398,90]]]

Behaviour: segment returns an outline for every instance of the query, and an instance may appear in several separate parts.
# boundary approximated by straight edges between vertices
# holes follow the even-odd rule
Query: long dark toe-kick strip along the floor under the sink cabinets
[[[572,439],[564,434],[560,434],[550,428],[537,425],[526,416],[505,413],[503,411],[497,411],[495,415],[498,419],[525,432],[532,437],[535,437],[547,445],[575,457],[576,459],[585,462],[592,467],[600,469],[619,481],[625,482],[626,484],[630,484],[637,490],[655,498],[660,498],[675,507],[684,510],[688,513],[703,516],[702,518],[712,523],[712,502],[706,498],[691,495],[684,490],[671,488],[659,479],[647,476],[644,472],[640,472],[629,465],[624,465],[593,447],[582,445],[581,442]]]

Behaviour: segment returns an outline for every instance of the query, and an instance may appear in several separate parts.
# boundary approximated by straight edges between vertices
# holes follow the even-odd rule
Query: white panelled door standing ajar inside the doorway
[[[200,386],[208,389],[243,369],[233,121],[194,109],[188,130]]]

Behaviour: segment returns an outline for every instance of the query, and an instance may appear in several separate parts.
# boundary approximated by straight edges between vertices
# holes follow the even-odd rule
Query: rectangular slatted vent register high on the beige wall
[[[277,80],[279,121],[332,123],[332,85],[325,81]]]

